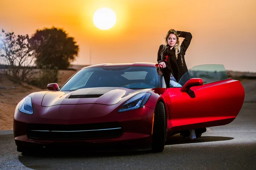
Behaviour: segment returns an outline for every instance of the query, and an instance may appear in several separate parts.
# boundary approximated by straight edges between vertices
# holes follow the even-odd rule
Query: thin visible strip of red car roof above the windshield
[[[111,66],[151,66],[155,67],[156,63],[137,62],[137,63],[103,63],[84,67],[85,68],[96,68],[96,67],[111,67]]]

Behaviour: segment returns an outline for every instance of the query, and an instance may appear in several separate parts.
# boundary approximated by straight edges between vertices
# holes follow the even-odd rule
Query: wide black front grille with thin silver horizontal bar
[[[27,136],[40,140],[114,138],[123,133],[119,122],[95,124],[29,124]]]

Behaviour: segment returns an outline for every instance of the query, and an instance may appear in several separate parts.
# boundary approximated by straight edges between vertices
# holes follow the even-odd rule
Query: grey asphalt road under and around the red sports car
[[[201,138],[173,136],[162,153],[49,152],[23,155],[16,151],[12,131],[0,131],[0,170],[256,170],[256,81],[242,82],[244,105],[230,124],[209,127]]]

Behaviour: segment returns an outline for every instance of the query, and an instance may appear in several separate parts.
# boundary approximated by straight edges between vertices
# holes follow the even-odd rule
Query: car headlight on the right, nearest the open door
[[[122,105],[118,112],[125,112],[145,106],[150,95],[150,93],[146,92],[135,95],[134,97],[130,98],[124,105]]]

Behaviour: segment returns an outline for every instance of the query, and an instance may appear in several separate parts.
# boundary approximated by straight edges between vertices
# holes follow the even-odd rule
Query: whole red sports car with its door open
[[[223,65],[201,65],[166,88],[155,63],[99,64],[74,74],[61,88],[32,93],[15,109],[17,151],[51,146],[150,147],[161,152],[169,136],[197,137],[205,127],[229,124],[244,89]]]

